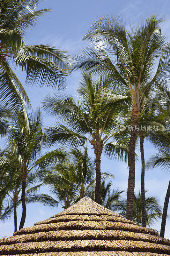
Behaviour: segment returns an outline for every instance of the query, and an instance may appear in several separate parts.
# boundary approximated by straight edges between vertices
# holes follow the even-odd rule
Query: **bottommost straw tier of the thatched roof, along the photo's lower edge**
[[[97,243],[96,243],[97,242]],[[0,252],[2,253],[39,253],[39,252],[76,252],[76,251],[126,251],[126,252],[158,252],[158,253],[170,253],[170,246],[154,244],[141,241],[104,241],[104,240],[93,240],[81,241],[79,244],[74,241],[68,241],[68,243],[58,242],[52,244],[51,242],[37,242],[31,243],[20,243],[16,245],[2,245]]]

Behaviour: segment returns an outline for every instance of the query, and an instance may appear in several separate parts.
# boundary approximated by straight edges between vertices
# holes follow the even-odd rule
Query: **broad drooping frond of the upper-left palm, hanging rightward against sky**
[[[46,84],[59,89],[65,87],[68,67],[64,60],[69,60],[66,51],[50,45],[21,46],[15,53],[14,61],[22,70],[26,70],[26,82],[40,86]]]

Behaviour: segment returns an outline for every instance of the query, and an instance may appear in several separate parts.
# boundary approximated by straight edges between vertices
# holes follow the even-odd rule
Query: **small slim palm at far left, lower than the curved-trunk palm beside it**
[[[0,220],[6,221],[11,218],[12,213],[14,215],[14,232],[17,231],[17,207],[21,204],[21,189],[22,189],[22,179],[19,170],[13,170],[10,168],[7,170],[7,174],[10,180],[14,180],[13,176],[17,175],[17,179],[14,180],[12,188],[8,191],[8,194],[4,198],[6,201],[6,206],[4,206],[4,211],[1,214]],[[26,179],[26,197],[34,194],[40,189],[42,184],[36,184],[39,178],[42,176],[42,171],[31,172],[28,174]]]

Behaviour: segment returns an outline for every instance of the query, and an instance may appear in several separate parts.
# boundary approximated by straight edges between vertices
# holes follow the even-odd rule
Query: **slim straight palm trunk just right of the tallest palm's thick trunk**
[[[142,227],[146,228],[146,212],[145,212],[145,189],[144,189],[144,173],[145,173],[145,162],[144,162],[144,136],[140,135],[140,153],[141,153],[141,204],[142,204]]]

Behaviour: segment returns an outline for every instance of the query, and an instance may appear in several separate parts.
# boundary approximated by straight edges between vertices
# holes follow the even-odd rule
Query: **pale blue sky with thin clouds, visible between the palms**
[[[135,23],[145,19],[147,15],[157,13],[166,17],[166,21],[162,24],[162,32],[166,33],[170,38],[170,1],[146,1],[146,0],[47,0],[38,6],[38,9],[51,8],[53,12],[47,13],[39,20],[38,25],[32,29],[26,35],[26,44],[52,44],[63,50],[68,50],[71,53],[75,53],[80,47],[84,45],[82,37],[87,29],[92,24],[92,21],[96,18],[107,14],[122,14],[129,20],[133,20]],[[16,71],[18,77],[25,83],[25,74],[20,70]],[[75,88],[77,86],[78,78],[80,74],[75,72],[68,79],[68,86],[66,91],[75,95]],[[37,108],[40,105],[43,97],[51,92],[50,88],[38,88],[26,86],[26,91],[30,97],[33,108]],[[54,118],[44,114],[44,125],[51,125]],[[2,141],[3,143],[3,141]],[[2,144],[1,144],[2,145]],[[91,145],[89,145],[91,148]],[[147,160],[155,149],[149,142],[144,142],[145,159]],[[90,154],[93,157],[93,151],[90,149]],[[140,152],[137,151],[140,156]],[[114,174],[115,180],[113,180],[114,187],[119,187],[124,190],[127,189],[128,182],[128,168],[126,163],[118,161],[110,161],[105,156],[101,159],[102,172],[109,171]],[[140,175],[141,164],[140,157],[136,164],[136,183],[135,191],[140,189]],[[163,207],[164,198],[166,195],[166,189],[169,182],[169,174],[164,170],[155,168],[149,170],[145,175],[145,188],[149,190],[147,195],[157,196],[161,206]],[[42,189],[43,193],[47,193],[47,188]],[[41,204],[27,205],[27,217],[24,227],[33,226],[34,222],[47,219],[63,209],[59,206],[56,209],[50,209],[44,207]],[[18,207],[18,226],[21,217],[21,207]],[[170,207],[169,207],[170,213]],[[160,230],[160,221],[156,223],[152,228]],[[0,223],[0,238],[4,236],[11,236],[14,229],[13,218]],[[170,220],[167,220],[165,237],[170,239]]]

